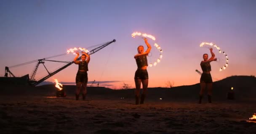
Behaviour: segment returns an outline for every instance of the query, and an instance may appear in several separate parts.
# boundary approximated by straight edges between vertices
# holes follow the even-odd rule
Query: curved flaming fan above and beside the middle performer
[[[150,39],[152,39],[153,41],[155,41],[155,37],[152,36],[152,35],[149,35],[149,34],[147,34],[147,33],[134,32],[134,33],[131,34],[131,36],[132,36],[133,38],[135,38],[135,36],[142,36],[142,38],[150,38]],[[161,49],[161,47],[160,47],[157,43],[155,43],[154,46],[155,46],[155,47],[157,48],[157,50],[160,52],[160,55],[159,55],[159,57],[156,59],[155,62],[151,62],[151,63],[149,64],[149,67],[152,67],[153,64],[154,64],[154,66],[156,66],[157,63],[160,62],[160,59],[162,59],[162,57],[163,57],[163,56],[162,56],[163,50]]]

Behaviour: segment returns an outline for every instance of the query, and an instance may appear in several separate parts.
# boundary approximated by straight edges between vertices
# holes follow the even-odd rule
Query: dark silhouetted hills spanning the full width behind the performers
[[[237,100],[250,100],[256,94],[256,77],[253,76],[231,76],[223,80],[213,82],[213,100],[226,100],[227,93],[234,88]],[[74,96],[75,85],[64,85],[63,89],[68,96]],[[104,98],[134,98],[134,89],[112,90],[104,87],[87,87],[88,95],[103,95]],[[149,88],[147,98],[164,100],[197,100],[200,91],[200,83],[195,85],[184,85],[173,88]],[[29,86],[4,86],[1,94],[8,95],[56,95],[54,85]],[[207,90],[205,92],[206,98]]]

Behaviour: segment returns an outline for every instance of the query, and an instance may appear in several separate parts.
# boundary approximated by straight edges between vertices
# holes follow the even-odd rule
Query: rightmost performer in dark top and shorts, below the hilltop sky
[[[202,68],[203,74],[200,78],[200,98],[199,98],[199,104],[202,102],[203,93],[205,91],[205,88],[208,88],[208,102],[211,103],[211,96],[212,96],[212,88],[213,88],[213,80],[211,78],[211,64],[210,62],[216,61],[217,59],[214,58],[215,54],[213,53],[213,49],[210,48],[211,52],[211,58],[208,59],[208,54],[203,54],[203,61],[201,61],[200,66]]]

